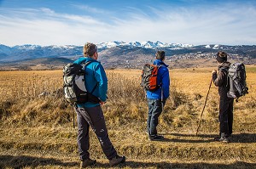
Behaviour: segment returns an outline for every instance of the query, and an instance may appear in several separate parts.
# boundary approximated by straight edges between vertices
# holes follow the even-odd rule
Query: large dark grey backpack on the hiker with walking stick
[[[246,82],[246,70],[242,63],[233,63],[228,70],[228,83],[230,90],[227,93],[229,98],[236,98],[236,101],[241,96],[248,93]]]

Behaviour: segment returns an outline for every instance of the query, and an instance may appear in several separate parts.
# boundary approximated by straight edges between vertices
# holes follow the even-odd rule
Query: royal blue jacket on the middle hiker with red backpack
[[[160,88],[154,92],[147,91],[148,99],[161,99],[161,88],[163,89],[163,99],[167,99],[169,97],[169,88],[170,88],[170,76],[169,70],[167,69],[168,65],[166,65],[160,59],[154,60],[154,65],[164,65],[161,66],[157,73],[157,84],[161,84]]]

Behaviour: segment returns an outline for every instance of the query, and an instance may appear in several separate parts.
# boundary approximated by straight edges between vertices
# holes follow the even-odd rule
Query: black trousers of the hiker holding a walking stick
[[[229,136],[233,126],[233,103],[234,99],[221,97],[219,100],[219,132]]]

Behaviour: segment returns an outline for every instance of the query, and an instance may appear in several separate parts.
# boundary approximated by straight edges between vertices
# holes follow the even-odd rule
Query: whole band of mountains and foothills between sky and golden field
[[[218,50],[230,54],[230,59],[255,64],[255,45],[191,45],[163,42],[102,42],[97,44],[99,60],[106,68],[141,68],[154,59],[157,50],[166,51],[166,62],[174,67],[199,65],[196,60],[212,59]],[[0,70],[9,69],[59,69],[83,54],[82,46],[0,45]],[[179,61],[177,61],[179,60]],[[186,62],[185,65],[175,64]],[[190,60],[190,61],[189,61]],[[212,61],[210,63],[212,63]],[[191,62],[191,63],[189,63]],[[19,64],[17,64],[19,63]],[[192,64],[193,63],[193,64]]]

